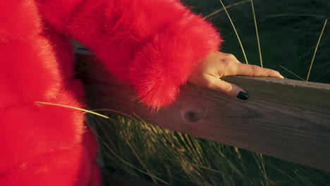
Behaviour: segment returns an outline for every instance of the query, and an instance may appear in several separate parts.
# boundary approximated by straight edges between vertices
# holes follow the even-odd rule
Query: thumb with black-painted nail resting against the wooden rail
[[[212,80],[209,81],[209,88],[211,89],[215,89],[216,91],[227,94],[228,96],[237,97],[243,100],[246,100],[249,97],[244,89],[234,85],[233,83],[226,82],[216,77],[209,78],[212,78]]]

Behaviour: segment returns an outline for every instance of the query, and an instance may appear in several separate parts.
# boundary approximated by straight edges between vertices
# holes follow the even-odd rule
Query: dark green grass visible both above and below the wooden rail
[[[240,61],[274,68],[291,79],[330,83],[328,0],[185,3],[221,28],[223,51]],[[142,120],[109,120],[90,117],[100,136],[104,166],[159,185],[330,185],[330,173]]]

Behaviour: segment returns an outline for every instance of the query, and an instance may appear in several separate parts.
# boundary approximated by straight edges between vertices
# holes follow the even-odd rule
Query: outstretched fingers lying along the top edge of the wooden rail
[[[263,77],[279,77],[284,78],[276,70],[271,70],[269,68],[261,68],[259,66],[252,66],[243,63],[235,63],[236,72],[233,75],[246,75],[246,76],[263,76]]]

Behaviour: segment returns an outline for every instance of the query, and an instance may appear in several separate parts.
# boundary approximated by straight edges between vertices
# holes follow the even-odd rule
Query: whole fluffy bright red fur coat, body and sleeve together
[[[0,185],[100,185],[67,37],[166,106],[220,37],[176,0],[0,0]]]

